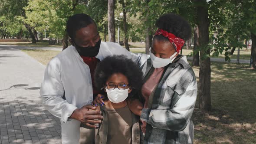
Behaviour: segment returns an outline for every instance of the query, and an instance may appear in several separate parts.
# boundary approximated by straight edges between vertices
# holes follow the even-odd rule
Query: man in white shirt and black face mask
[[[106,56],[121,54],[141,63],[141,56],[128,52],[117,43],[101,42],[94,20],[86,14],[71,16],[66,28],[72,46],[46,66],[40,95],[45,108],[60,118],[62,143],[78,144],[81,122],[96,128],[94,124],[102,120],[100,111],[89,111],[95,109],[89,105],[93,94],[98,94],[92,82],[97,63]]]

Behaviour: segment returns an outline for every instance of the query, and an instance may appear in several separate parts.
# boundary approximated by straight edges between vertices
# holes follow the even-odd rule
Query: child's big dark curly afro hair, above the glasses
[[[108,56],[97,65],[94,73],[96,88],[102,89],[108,78],[115,73],[121,73],[127,77],[129,85],[133,88],[129,93],[130,96],[134,97],[134,94],[141,90],[142,72],[135,62],[124,55]]]

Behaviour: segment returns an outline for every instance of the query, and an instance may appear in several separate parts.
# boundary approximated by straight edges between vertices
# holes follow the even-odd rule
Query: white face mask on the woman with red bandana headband
[[[166,65],[168,65],[169,63],[173,62],[173,60],[176,58],[177,52],[175,52],[169,59],[163,59],[163,58],[158,58],[156,56],[154,56],[154,54],[151,52],[151,48],[149,49],[149,55],[150,55],[150,59],[152,61],[153,67],[154,68],[161,68],[164,67]]]

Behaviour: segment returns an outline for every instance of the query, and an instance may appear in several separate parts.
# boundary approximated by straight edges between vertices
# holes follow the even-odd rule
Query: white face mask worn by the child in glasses
[[[108,88],[105,88],[108,99],[113,103],[119,103],[124,101],[129,94],[129,88],[126,88],[125,90],[119,90],[118,88],[115,88],[114,90],[109,90]]]

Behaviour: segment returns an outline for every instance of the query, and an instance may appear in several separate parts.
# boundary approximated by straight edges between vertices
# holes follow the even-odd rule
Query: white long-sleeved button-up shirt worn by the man
[[[125,55],[141,63],[141,55],[128,52],[117,43],[101,42],[96,56],[102,61],[106,56]],[[144,56],[142,56],[144,57]],[[143,63],[143,62],[142,62]],[[40,88],[44,107],[62,124],[62,144],[78,144],[80,121],[69,119],[73,111],[93,101],[90,69],[74,46],[69,46],[46,66]],[[65,95],[65,99],[63,96]]]

